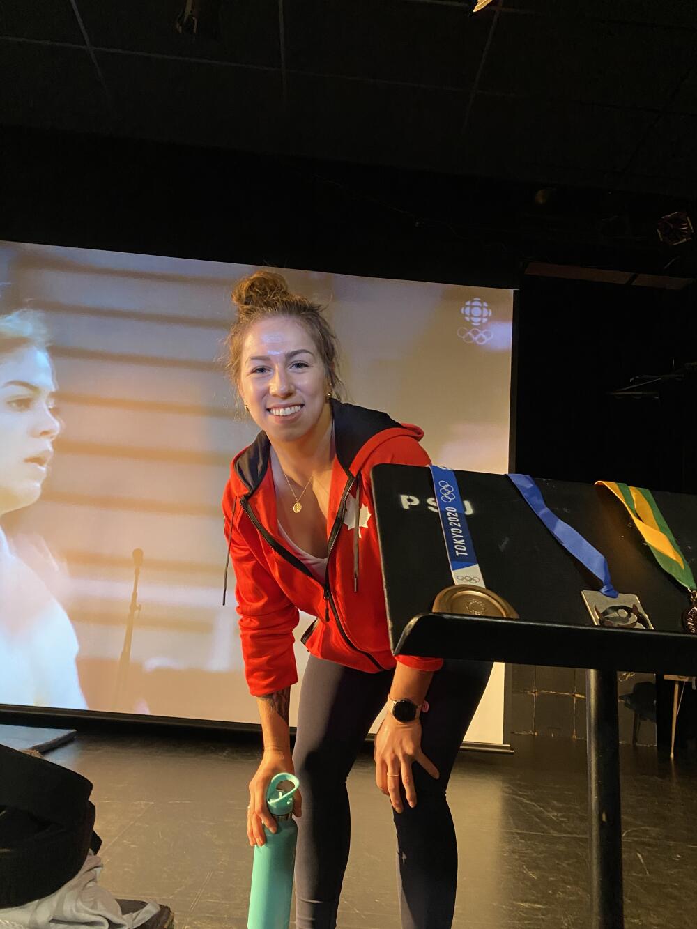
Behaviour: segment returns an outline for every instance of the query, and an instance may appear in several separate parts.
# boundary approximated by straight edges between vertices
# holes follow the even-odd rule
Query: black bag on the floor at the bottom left
[[[0,909],[54,894],[99,851],[92,784],[0,745]]]

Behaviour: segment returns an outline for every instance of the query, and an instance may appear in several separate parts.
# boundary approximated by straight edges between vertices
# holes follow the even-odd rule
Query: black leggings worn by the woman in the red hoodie
[[[441,777],[433,779],[414,764],[417,803],[404,804],[402,813],[393,811],[403,929],[448,929],[453,922],[457,846],[445,791],[491,670],[488,661],[445,661],[433,675],[421,744]],[[309,658],[293,755],[303,796],[303,815],[297,820],[297,929],[336,925],[349,860],[346,780],[385,705],[393,674],[367,674]]]

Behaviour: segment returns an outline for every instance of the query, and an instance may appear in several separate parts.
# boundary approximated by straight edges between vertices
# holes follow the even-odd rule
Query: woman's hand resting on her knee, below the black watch
[[[431,778],[441,777],[436,765],[421,751],[421,723],[398,723],[388,714],[375,736],[375,783],[401,813],[401,785],[410,806],[416,805],[412,765],[418,762]]]

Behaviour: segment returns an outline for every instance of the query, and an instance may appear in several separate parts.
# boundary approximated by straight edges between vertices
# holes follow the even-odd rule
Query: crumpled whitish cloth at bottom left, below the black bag
[[[109,891],[99,886],[101,869],[101,858],[88,855],[80,872],[55,894],[22,907],[0,909],[0,929],[137,929],[159,911],[159,904],[148,903],[133,913],[122,913]]]

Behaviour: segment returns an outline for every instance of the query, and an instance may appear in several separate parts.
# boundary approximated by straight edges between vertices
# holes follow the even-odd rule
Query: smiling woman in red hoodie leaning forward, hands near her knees
[[[230,467],[225,532],[244,666],[264,752],[249,785],[247,834],[275,830],[270,779],[295,771],[296,925],[332,927],[349,857],[346,779],[375,717],[375,779],[393,807],[405,929],[452,924],[457,852],[445,789],[491,664],[392,655],[375,531],[374,464],[429,464],[414,425],[335,399],[335,335],[320,307],[269,271],[240,281],[228,337],[234,386],[262,430]],[[302,636],[296,743],[288,730]]]

